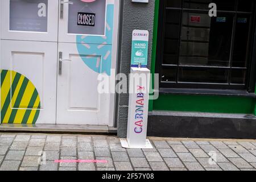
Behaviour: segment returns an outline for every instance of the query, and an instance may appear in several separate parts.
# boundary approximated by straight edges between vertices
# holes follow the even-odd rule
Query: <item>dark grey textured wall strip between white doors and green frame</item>
[[[121,26],[119,39],[118,72],[129,75],[131,64],[131,39],[135,29],[148,30],[148,68],[151,64],[152,34],[154,27],[155,0],[149,3],[134,3],[131,0],[121,0]],[[126,138],[129,95],[119,94],[116,103],[116,120],[118,137]]]

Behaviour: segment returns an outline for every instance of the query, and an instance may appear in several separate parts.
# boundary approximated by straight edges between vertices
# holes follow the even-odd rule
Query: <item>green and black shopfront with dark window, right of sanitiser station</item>
[[[150,135],[256,137],[254,3],[156,1]]]

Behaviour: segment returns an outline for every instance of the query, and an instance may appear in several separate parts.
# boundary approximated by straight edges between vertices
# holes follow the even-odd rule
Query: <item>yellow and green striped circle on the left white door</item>
[[[1,72],[1,123],[34,124],[40,113],[40,97],[34,84],[20,73]]]

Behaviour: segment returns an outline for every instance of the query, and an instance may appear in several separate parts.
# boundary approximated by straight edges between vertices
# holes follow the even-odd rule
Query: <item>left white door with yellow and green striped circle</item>
[[[56,123],[59,0],[1,0],[1,123]]]

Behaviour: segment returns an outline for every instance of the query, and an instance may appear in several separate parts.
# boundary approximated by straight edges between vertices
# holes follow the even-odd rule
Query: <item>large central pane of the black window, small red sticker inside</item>
[[[233,14],[184,13],[180,65],[229,66]]]

